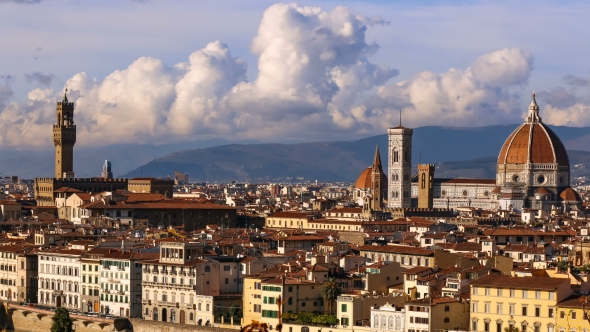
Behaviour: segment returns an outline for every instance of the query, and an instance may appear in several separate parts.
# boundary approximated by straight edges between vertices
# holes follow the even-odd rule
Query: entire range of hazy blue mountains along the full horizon
[[[437,164],[437,177],[494,177],[502,144],[517,125],[414,129],[413,164]],[[571,164],[590,165],[590,127],[552,127],[570,151]],[[119,144],[75,148],[77,177],[99,176],[109,159],[115,176],[166,177],[174,170],[191,181],[287,180],[354,181],[373,160],[375,146],[387,161],[387,135],[356,141],[295,144],[222,139],[166,145]],[[52,176],[53,149],[0,151],[0,175]],[[573,169],[573,168],[572,168]],[[580,168],[574,175],[581,174]],[[582,172],[583,173],[583,172]]]

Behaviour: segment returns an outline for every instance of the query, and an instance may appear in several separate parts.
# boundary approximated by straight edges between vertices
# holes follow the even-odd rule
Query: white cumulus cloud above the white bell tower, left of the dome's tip
[[[517,92],[532,70],[531,54],[518,48],[494,51],[465,70],[422,71],[384,86],[365,103],[364,114],[375,126],[384,118],[388,124],[397,122],[399,109],[412,126],[517,123],[526,111]]]

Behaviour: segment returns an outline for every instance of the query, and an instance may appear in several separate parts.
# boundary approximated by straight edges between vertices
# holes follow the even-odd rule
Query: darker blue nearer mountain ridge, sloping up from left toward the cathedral
[[[497,155],[516,127],[417,128],[412,142],[412,162],[438,164],[437,177],[495,178]],[[590,128],[553,129],[567,148],[590,151]],[[352,142],[230,144],[171,153],[126,176],[150,174],[163,177],[177,169],[189,174],[191,179],[201,181],[354,181],[371,164],[377,144],[386,164],[387,142],[384,134]],[[588,162],[590,152],[570,151],[570,159],[572,164]]]

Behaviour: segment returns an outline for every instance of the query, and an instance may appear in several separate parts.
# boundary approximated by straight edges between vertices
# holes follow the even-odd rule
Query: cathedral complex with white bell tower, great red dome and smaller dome
[[[500,149],[495,179],[439,179],[434,177],[434,165],[418,165],[418,173],[412,174],[413,130],[400,123],[389,128],[388,135],[387,176],[381,169],[377,150],[373,165],[363,171],[355,184],[354,199],[363,209],[470,207],[517,213],[523,209],[581,209],[580,196],[570,187],[567,151],[559,137],[542,122],[535,94],[524,123]],[[384,181],[387,190],[378,190],[383,188]]]

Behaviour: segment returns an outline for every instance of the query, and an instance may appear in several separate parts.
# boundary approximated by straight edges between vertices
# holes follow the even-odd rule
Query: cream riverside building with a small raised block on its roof
[[[199,258],[202,255],[200,243],[160,243],[159,257],[146,261],[143,268],[145,320],[193,325],[200,320],[204,325],[212,319],[213,295],[219,295],[219,264]]]

